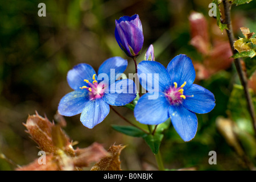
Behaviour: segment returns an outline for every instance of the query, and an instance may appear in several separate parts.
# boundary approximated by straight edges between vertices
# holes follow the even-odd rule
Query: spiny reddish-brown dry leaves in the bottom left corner
[[[88,167],[90,163],[98,162],[109,156],[104,147],[98,143],[74,150],[72,142],[70,142],[71,139],[61,130],[60,125],[55,125],[38,113],[29,115],[24,126],[27,127],[27,133],[31,135],[31,138],[38,143],[39,148],[46,152],[46,164],[39,164],[36,159],[27,166],[16,170],[71,171]]]

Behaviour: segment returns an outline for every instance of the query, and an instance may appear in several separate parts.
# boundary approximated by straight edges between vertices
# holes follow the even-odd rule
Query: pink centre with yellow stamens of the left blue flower
[[[89,80],[84,80],[88,86],[82,86],[80,89],[87,89],[89,91],[89,99],[90,100],[95,100],[96,98],[101,98],[104,94],[105,91],[105,85],[100,83],[98,84],[96,78],[96,74],[93,75],[93,82],[89,82]]]

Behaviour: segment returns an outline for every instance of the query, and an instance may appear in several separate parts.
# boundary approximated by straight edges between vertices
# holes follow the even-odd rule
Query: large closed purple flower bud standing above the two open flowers
[[[115,39],[127,56],[138,56],[144,42],[139,15],[122,16],[115,20]]]

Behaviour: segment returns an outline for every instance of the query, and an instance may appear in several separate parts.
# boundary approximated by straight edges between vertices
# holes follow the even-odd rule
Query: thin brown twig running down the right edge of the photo
[[[234,55],[235,53],[237,53],[237,50],[234,49],[234,47],[233,47],[235,39],[234,39],[231,14],[230,14],[232,4],[229,1],[224,0],[223,5],[224,5],[224,11],[225,11],[225,23],[228,26],[228,30],[226,30],[226,32],[228,34],[229,44],[230,44],[230,47],[231,47],[233,55]],[[246,76],[247,74],[246,74],[246,71],[243,71],[243,69],[242,69],[241,61],[242,60],[239,58],[234,59],[234,64],[236,65],[238,76],[240,78],[241,84],[243,86],[243,90],[245,92],[245,97],[246,97],[249,113],[251,116],[251,122],[253,124],[254,133],[256,134],[256,116],[255,116],[253,100],[249,93],[248,81],[247,81],[247,76]]]

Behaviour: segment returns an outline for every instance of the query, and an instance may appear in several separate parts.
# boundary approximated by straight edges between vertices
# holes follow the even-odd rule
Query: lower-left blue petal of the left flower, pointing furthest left
[[[75,90],[61,98],[58,111],[61,115],[72,116],[82,112],[89,101],[87,90]]]

